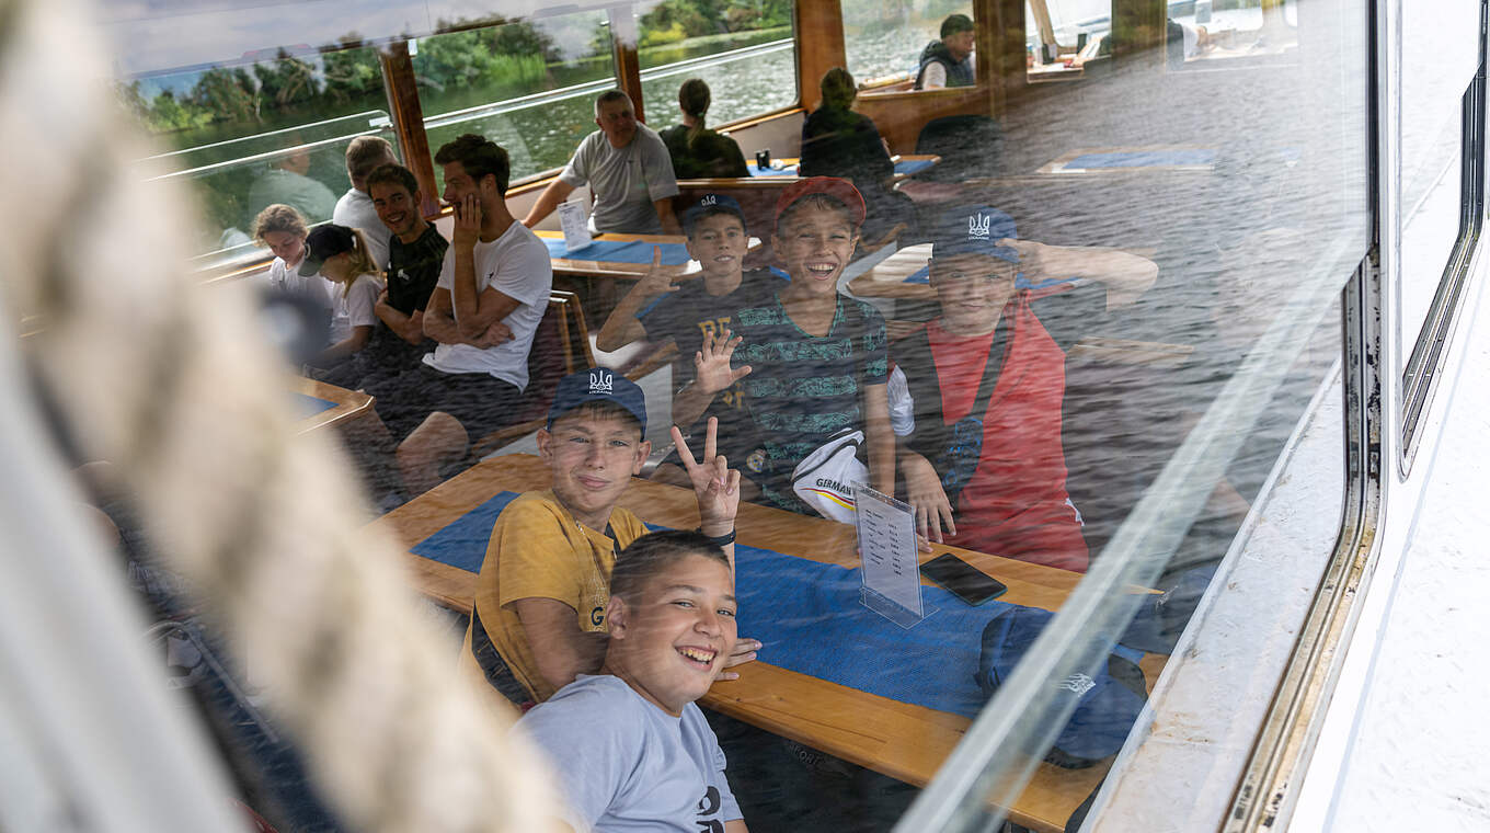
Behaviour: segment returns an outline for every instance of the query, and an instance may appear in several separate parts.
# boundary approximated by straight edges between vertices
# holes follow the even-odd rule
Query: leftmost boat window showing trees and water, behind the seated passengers
[[[194,249],[203,268],[262,256],[250,235],[271,203],[294,206],[308,224],[329,221],[350,186],[352,139],[396,145],[375,48],[247,57],[115,85],[121,104],[162,148],[140,170],[185,180],[197,194]]]

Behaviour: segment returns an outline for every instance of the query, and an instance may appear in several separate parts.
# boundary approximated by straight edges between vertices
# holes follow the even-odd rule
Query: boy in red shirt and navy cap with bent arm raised
[[[1158,267],[1016,240],[1009,215],[967,207],[943,215],[930,268],[942,316],[891,346],[915,417],[898,462],[921,533],[1085,571],[1061,446],[1065,352],[1147,291]],[[1018,289],[1016,276],[1039,289]],[[1071,280],[1040,288],[1049,279]]]

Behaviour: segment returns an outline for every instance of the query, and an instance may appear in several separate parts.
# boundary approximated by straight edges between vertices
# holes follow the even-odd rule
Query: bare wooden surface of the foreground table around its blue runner
[[[538,457],[495,457],[393,510],[371,528],[413,547],[498,492],[547,489],[548,483],[548,469]],[[679,529],[693,528],[699,520],[691,492],[647,480],[633,480],[620,505],[648,523]],[[738,529],[742,544],[857,566],[854,529],[846,525],[742,505]],[[1080,580],[1074,572],[937,547],[937,553],[945,550],[1009,586],[1001,599],[1018,605],[1056,609]],[[469,614],[475,574],[413,553],[405,560],[414,587]],[[1162,659],[1149,657],[1143,665],[1152,685]],[[764,662],[738,671],[741,678],[717,682],[703,705],[915,785],[925,785],[936,775],[971,723],[961,715],[867,694]],[[1010,820],[1034,830],[1059,832],[1106,772],[1106,766],[1059,769],[1042,763],[1010,811]]]

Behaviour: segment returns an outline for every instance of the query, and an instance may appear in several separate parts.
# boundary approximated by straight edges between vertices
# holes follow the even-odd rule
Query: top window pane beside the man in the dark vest
[[[860,86],[898,82],[909,88],[921,67],[921,54],[940,40],[942,21],[951,15],[973,18],[973,4],[849,0],[843,3],[843,69]]]

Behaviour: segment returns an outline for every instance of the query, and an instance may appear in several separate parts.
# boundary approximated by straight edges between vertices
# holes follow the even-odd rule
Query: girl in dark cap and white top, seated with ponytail
[[[367,347],[377,326],[377,298],[383,292],[377,264],[372,262],[367,237],[356,228],[326,224],[305,237],[305,259],[301,277],[316,274],[332,283],[331,344],[311,365],[331,368],[346,362]]]

